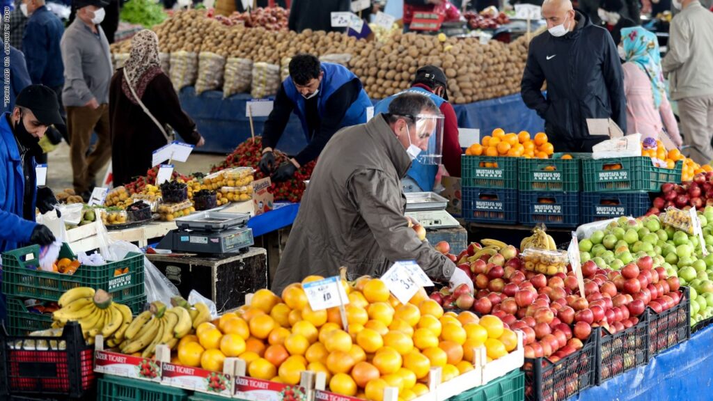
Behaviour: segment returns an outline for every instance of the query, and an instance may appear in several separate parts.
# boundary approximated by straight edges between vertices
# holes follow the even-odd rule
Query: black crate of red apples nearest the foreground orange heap
[[[567,357],[550,362],[545,357],[525,358],[525,400],[567,400],[596,381],[597,333],[592,333],[581,350]]]

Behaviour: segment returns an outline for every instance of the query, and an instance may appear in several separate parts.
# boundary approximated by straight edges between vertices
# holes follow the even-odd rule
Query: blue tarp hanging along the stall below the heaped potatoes
[[[239,93],[224,99],[220,91],[207,91],[196,96],[193,86],[188,86],[180,91],[179,98],[183,109],[205,137],[205,146],[196,151],[230,153],[250,138],[250,121],[245,116],[245,103],[251,99],[249,94]],[[476,103],[456,104],[453,108],[461,128],[480,128],[487,133],[494,128],[503,128],[508,132],[538,132],[544,128],[543,120],[525,107],[519,93]],[[255,135],[262,135],[266,119],[253,118]],[[302,126],[293,114],[277,148],[296,154],[306,144]]]

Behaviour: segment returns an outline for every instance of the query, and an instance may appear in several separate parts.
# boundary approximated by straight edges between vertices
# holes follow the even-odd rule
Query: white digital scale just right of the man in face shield
[[[424,228],[457,228],[461,224],[446,212],[448,199],[434,192],[404,193],[407,217],[419,220]]]

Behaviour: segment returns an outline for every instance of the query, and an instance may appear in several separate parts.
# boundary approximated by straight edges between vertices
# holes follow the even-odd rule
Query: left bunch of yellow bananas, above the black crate
[[[129,307],[113,302],[104,290],[72,288],[62,294],[58,304],[60,309],[52,314],[52,328],[63,328],[68,321],[75,320],[89,344],[100,334],[108,339],[122,338],[131,323]]]

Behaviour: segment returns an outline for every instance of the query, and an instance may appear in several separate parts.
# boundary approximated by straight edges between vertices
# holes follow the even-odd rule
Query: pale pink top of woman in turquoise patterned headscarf
[[[627,133],[640,133],[642,139],[658,139],[659,133],[663,131],[666,124],[666,130],[674,143],[680,143],[681,135],[667,96],[663,96],[661,106],[656,110],[649,76],[634,63],[625,63],[622,68],[624,68]]]

